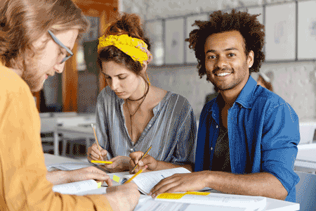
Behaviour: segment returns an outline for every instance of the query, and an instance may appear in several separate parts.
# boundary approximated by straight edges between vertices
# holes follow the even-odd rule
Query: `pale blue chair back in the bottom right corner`
[[[301,211],[316,210],[316,174],[296,172],[300,181],[296,185],[296,203]]]

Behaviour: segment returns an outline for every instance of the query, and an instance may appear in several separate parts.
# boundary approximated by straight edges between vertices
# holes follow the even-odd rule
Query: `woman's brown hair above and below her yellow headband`
[[[117,20],[107,25],[105,30],[105,37],[109,35],[121,35],[127,34],[129,37],[135,37],[145,41],[150,51],[150,40],[145,37],[145,32],[143,31],[143,25],[140,21],[140,17],[133,13],[120,13]],[[125,66],[127,69],[135,72],[139,75],[140,70],[143,67],[139,61],[135,61],[131,56],[127,55],[123,51],[117,49],[115,46],[105,46],[103,49],[98,51],[98,65],[102,69],[102,63],[104,61],[114,61],[119,65]]]

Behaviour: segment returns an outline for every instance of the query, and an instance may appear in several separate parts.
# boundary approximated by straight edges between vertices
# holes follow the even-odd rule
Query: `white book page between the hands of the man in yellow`
[[[98,188],[98,183],[93,179],[75,181],[67,184],[53,186],[53,191],[62,194],[76,194]]]

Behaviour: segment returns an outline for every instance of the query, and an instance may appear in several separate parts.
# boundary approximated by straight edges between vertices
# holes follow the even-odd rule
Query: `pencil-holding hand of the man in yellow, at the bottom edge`
[[[107,188],[106,194],[112,210],[131,211],[138,204],[140,193],[135,183],[129,182],[121,186]]]

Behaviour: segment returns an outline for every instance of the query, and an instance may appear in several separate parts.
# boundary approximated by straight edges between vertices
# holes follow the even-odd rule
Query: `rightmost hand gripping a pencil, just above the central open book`
[[[130,164],[130,169],[129,172],[131,174],[135,174],[135,172],[138,172],[139,170],[142,170],[145,165],[147,165],[147,170],[144,172],[149,171],[155,171],[157,166],[158,166],[158,161],[150,155],[145,155],[145,157],[140,160],[140,158],[144,155],[142,151],[137,151],[134,153],[129,154],[129,157],[131,158],[131,161],[129,162]],[[138,164],[138,167],[136,167],[134,172],[131,172],[133,168]]]

